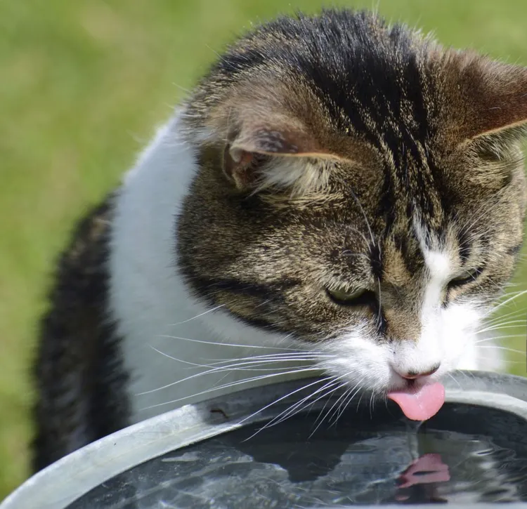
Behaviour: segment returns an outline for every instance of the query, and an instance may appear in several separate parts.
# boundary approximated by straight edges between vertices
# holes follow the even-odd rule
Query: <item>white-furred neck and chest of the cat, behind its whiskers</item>
[[[290,346],[279,334],[207,307],[190,294],[178,272],[177,218],[197,171],[195,150],[181,136],[181,114],[158,131],[115,199],[110,315],[123,340],[134,421],[266,380],[258,376],[278,381],[273,371],[216,368],[198,374],[210,371],[207,366],[214,362],[243,362],[240,359],[283,353]],[[284,367],[283,362],[277,365]],[[185,381],[188,377],[193,378]],[[256,380],[239,383],[245,378]],[[238,385],[212,390],[229,383]]]

